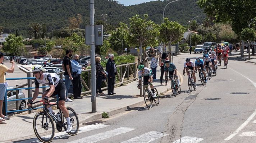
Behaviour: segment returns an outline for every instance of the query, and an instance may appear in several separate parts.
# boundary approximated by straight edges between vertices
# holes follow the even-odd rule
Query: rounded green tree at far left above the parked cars
[[[23,49],[23,51],[26,51],[24,44],[22,43],[22,36],[17,36],[10,34],[4,42],[3,50],[5,52],[9,52],[10,54],[18,55],[19,49]]]

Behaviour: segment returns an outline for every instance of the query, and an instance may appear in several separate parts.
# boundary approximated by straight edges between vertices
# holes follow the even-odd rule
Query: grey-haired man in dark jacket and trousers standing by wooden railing
[[[114,55],[109,54],[109,60],[106,63],[106,70],[108,72],[108,95],[114,95],[114,84],[116,75],[116,66]]]

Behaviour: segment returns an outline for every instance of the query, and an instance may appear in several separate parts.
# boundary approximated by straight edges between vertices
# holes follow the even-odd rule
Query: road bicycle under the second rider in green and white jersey
[[[148,109],[151,109],[152,108],[152,102],[155,102],[156,105],[159,105],[159,102],[160,102],[160,97],[159,97],[159,94],[156,90],[156,88],[154,87],[154,90],[155,90],[155,94],[156,94],[156,97],[154,98],[153,97],[153,92],[151,91],[151,89],[148,89],[148,83],[142,83],[145,85],[145,90],[144,90],[144,94],[143,94],[143,97],[144,97],[144,101],[145,101],[145,104],[147,106]],[[139,87],[141,87],[140,85],[142,84],[137,84]],[[149,83],[150,84],[150,83]]]

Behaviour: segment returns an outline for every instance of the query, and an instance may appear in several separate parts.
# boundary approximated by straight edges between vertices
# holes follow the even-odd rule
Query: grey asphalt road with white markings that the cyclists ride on
[[[201,56],[181,54],[174,58],[179,73],[184,60],[197,55]],[[160,105],[150,110],[141,105],[103,123],[82,125],[80,132],[72,137],[58,133],[53,143],[253,143],[255,64],[230,58],[228,68],[223,68],[223,65],[219,67],[217,76],[206,85],[197,82],[195,91],[188,91],[187,76],[184,76],[182,93],[177,97],[169,92],[160,99]],[[196,77],[199,79],[198,74]]]

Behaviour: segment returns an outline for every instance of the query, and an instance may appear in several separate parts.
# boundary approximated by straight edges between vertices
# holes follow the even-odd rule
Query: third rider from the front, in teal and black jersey
[[[165,77],[167,76],[167,72],[169,73],[169,77],[171,77],[171,75],[175,75],[175,77],[177,79],[177,82],[178,82],[178,85],[179,85],[180,82],[179,82],[179,78],[178,78],[178,75],[177,75],[176,66],[174,65],[174,63],[170,63],[169,60],[165,61],[165,66],[164,66]],[[167,80],[168,80],[168,77],[165,78],[165,85],[167,85]]]

